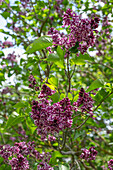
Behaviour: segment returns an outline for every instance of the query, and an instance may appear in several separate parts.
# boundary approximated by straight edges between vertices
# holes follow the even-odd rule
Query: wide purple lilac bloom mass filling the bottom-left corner
[[[4,158],[5,163],[11,165],[12,170],[29,169],[29,162],[26,158],[28,155],[30,157],[34,155],[37,160],[42,161],[39,163],[39,167],[41,164],[44,167],[50,167],[48,163],[51,156],[49,153],[39,153],[35,150],[34,142],[16,142],[14,146],[0,145],[0,156]]]

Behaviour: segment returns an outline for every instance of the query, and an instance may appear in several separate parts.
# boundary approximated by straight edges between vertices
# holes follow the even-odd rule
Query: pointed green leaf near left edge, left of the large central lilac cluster
[[[16,124],[22,122],[24,120],[25,116],[20,116],[18,113],[13,112],[9,119],[7,120],[5,129],[10,128],[11,126],[15,126]]]

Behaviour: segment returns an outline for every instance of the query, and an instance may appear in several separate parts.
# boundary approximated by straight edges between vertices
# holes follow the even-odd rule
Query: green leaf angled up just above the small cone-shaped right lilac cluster
[[[103,86],[104,86],[103,80],[97,79],[89,86],[89,88],[86,90],[86,92],[89,92],[91,90],[94,90],[94,89],[97,89],[97,88],[103,87]]]

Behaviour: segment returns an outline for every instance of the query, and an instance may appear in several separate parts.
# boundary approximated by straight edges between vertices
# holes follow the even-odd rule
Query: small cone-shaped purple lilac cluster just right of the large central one
[[[73,105],[75,106],[75,109],[78,110],[79,106],[81,111],[84,113],[89,113],[91,117],[93,117],[93,99],[89,96],[89,93],[86,93],[85,90],[83,88],[80,89],[79,92],[79,98],[77,100],[77,102],[74,102]]]

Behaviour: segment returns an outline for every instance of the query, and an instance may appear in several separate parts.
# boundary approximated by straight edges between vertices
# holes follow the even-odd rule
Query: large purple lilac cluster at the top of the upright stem
[[[78,42],[78,50],[84,54],[90,46],[94,45],[95,36],[93,32],[98,32],[96,28],[98,27],[99,21],[100,19],[97,17],[91,20],[88,18],[81,19],[81,17],[71,9],[67,9],[63,15],[63,27],[69,27],[70,33],[65,35],[51,28],[48,35],[52,36],[54,45],[64,47],[67,52]],[[51,52],[51,48],[48,49]]]

